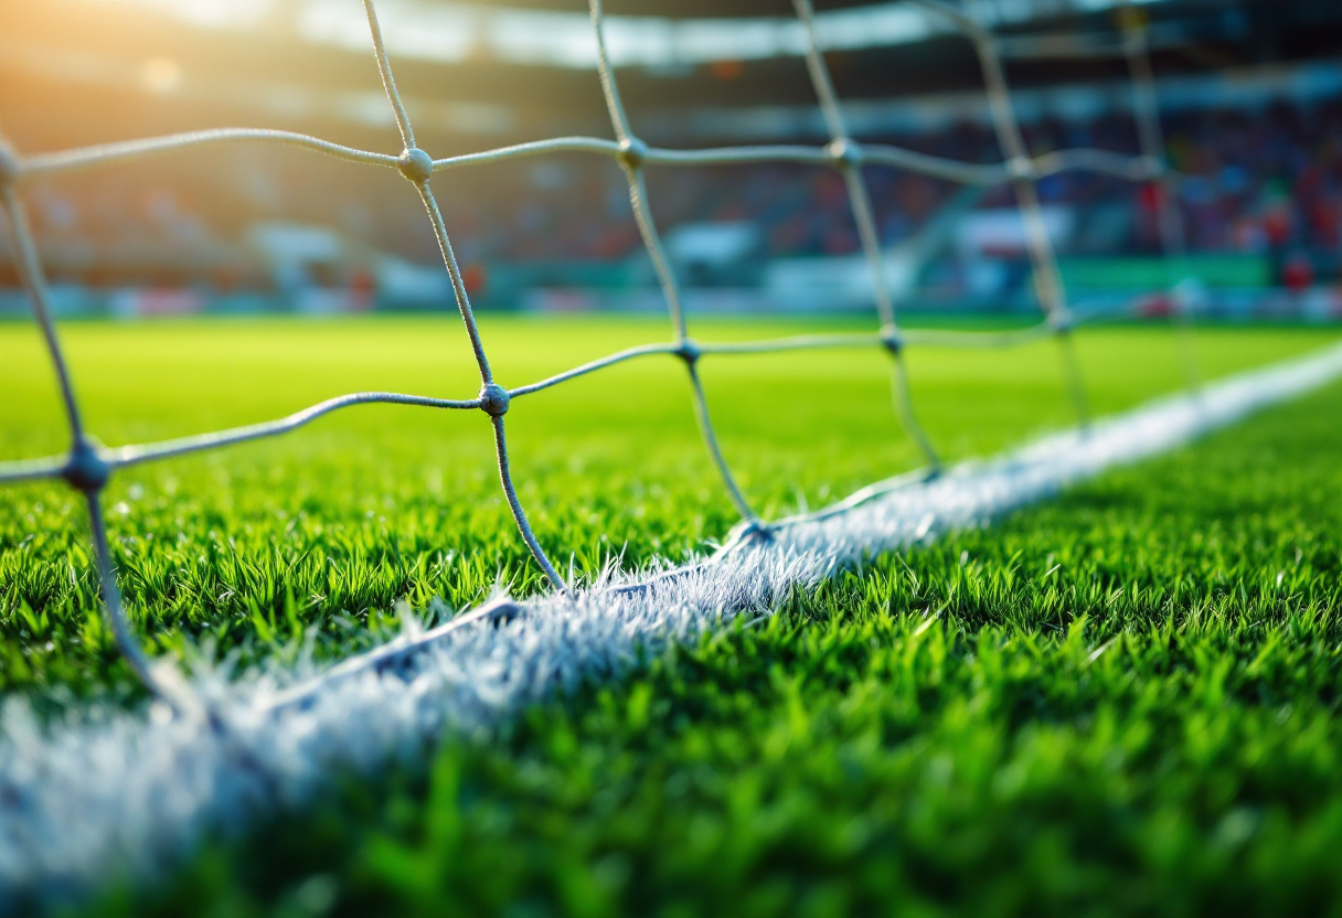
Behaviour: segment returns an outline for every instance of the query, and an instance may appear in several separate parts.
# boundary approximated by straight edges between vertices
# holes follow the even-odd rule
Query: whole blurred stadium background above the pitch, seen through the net
[[[977,0],[1007,36],[1114,39],[1118,0]],[[899,3],[817,4],[851,129],[966,161],[1001,153],[973,48]],[[1197,306],[1342,318],[1342,16],[1335,0],[1151,0],[1153,60]],[[609,136],[580,0],[380,4],[420,145],[450,156]],[[611,3],[633,126],[662,146],[828,140],[786,0]],[[730,12],[730,16],[723,13]],[[0,5],[0,130],[43,152],[216,126],[396,152],[357,3],[43,0]],[[1126,62],[1008,62],[1033,154],[1138,153]],[[1011,189],[868,169],[905,310],[1033,313]],[[433,238],[393,170],[302,150],[209,149],[34,183],[62,315],[455,311]],[[823,168],[652,169],[654,213],[691,311],[868,310],[841,177]],[[476,303],[663,309],[605,157],[435,178]],[[1067,173],[1040,195],[1074,299],[1164,283],[1158,189]],[[4,230],[0,228],[0,234]],[[0,235],[0,248],[9,240]],[[1151,311],[1162,311],[1158,298]],[[25,317],[0,255],[0,317]]]

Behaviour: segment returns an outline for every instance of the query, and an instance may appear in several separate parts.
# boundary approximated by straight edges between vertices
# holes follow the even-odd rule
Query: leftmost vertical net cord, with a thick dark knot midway
[[[42,329],[46,340],[47,354],[55,368],[60,385],[60,397],[64,403],[66,419],[70,424],[71,447],[70,464],[66,470],[67,480],[83,493],[89,511],[89,529],[93,538],[94,561],[98,572],[98,585],[102,592],[102,612],[107,627],[111,629],[117,650],[130,666],[136,678],[156,697],[181,709],[181,693],[169,691],[166,682],[177,682],[168,672],[169,664],[156,667],[145,654],[140,639],[136,636],[130,619],[121,603],[121,589],[117,586],[117,569],[111,562],[111,550],[107,542],[107,527],[102,515],[102,489],[107,483],[110,470],[98,459],[93,444],[89,442],[79,415],[79,401],[75,397],[74,384],[70,380],[70,368],[66,364],[64,352],[60,348],[60,338],[56,334],[55,321],[51,310],[51,297],[47,289],[46,272],[42,260],[38,258],[38,247],[32,240],[32,228],[23,203],[8,184],[0,187],[0,203],[4,205],[5,216],[9,221],[11,235],[16,248],[16,262],[19,276],[28,302],[32,306],[34,317]],[[162,678],[160,678],[160,674]]]

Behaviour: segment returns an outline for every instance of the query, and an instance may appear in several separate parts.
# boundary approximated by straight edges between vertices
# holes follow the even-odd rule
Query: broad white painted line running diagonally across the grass
[[[488,729],[581,679],[628,670],[640,648],[769,612],[863,556],[980,525],[1338,377],[1342,345],[933,482],[878,489],[839,513],[793,521],[770,542],[739,542],[651,580],[616,574],[570,599],[501,603],[307,682],[279,670],[239,680],[203,672],[208,718],[99,707],[40,726],[11,699],[0,713],[0,911],[78,895],[117,874],[153,875],[203,833],[311,801],[334,772],[373,774],[421,757],[444,730]]]

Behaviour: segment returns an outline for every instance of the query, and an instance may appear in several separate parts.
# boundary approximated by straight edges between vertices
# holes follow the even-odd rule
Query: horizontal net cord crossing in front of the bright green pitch
[[[1149,294],[1147,294],[1149,295]],[[1102,322],[1121,322],[1137,318],[1145,307],[1145,295],[1135,297],[1118,306],[1100,306],[1091,310],[1075,309],[1072,313],[1072,327],[1096,325]],[[506,389],[510,399],[519,399],[535,392],[554,388],[570,380],[596,373],[599,370],[616,366],[640,357],[671,356],[684,360],[687,354],[695,358],[707,356],[768,356],[797,350],[835,350],[835,349],[880,349],[906,346],[926,346],[934,349],[1008,349],[1028,345],[1051,334],[1057,333],[1057,325],[1048,319],[1035,322],[1019,329],[1001,332],[957,332],[950,329],[900,329],[896,336],[883,336],[874,333],[833,333],[833,334],[798,334],[784,338],[764,338],[758,341],[696,341],[686,340],[682,344],[648,344],[619,350],[607,357],[593,360],[581,366],[576,366],[564,373],[558,373],[539,382],[522,385],[515,389]],[[272,436],[295,432],[302,427],[345,408],[357,405],[405,405],[419,408],[437,408],[471,411],[483,408],[480,399],[437,399],[433,396],[403,395],[399,392],[352,392],[334,396],[317,404],[286,415],[283,417],[246,424],[223,431],[195,434],[169,440],[150,443],[137,443],[119,447],[103,447],[91,444],[97,456],[111,470],[129,468],[150,462],[178,459],[207,450],[223,448],[262,440]],[[0,484],[32,482],[39,479],[63,478],[70,466],[70,455],[40,456],[35,459],[11,459],[0,462]],[[773,526],[776,523],[769,523]]]

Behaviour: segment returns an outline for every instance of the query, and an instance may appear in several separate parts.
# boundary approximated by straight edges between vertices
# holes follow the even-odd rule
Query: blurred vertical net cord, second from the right
[[[946,12],[946,8],[939,3],[918,1],[938,12]],[[1076,411],[1080,424],[1086,425],[1090,423],[1090,400],[1086,395],[1086,382],[1082,377],[1080,358],[1076,354],[1076,341],[1072,336],[1072,317],[1067,307],[1067,294],[1063,287],[1062,271],[1057,267],[1053,243],[1048,238],[1048,227],[1044,223],[1044,213],[1039,205],[1039,189],[1035,185],[1035,161],[1029,158],[1029,153],[1025,149],[1025,138],[1020,132],[1020,123],[1016,121],[1011,93],[1007,89],[1007,75],[1002,71],[1001,58],[997,54],[993,35],[961,13],[954,13],[954,19],[969,34],[969,39],[978,55],[980,67],[984,71],[984,85],[988,91],[988,105],[992,111],[993,128],[997,132],[997,142],[1002,148],[1002,154],[1007,157],[1012,189],[1016,193],[1016,207],[1025,225],[1029,258],[1035,268],[1035,293],[1039,297],[1040,306],[1044,309],[1044,314],[1053,323],[1063,360],[1063,376],[1072,407]]]

